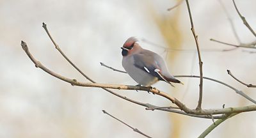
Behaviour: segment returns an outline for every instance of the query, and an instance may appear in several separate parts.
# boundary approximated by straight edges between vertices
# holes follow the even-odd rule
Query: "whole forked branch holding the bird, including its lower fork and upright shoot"
[[[187,1],[187,4],[188,4],[188,1]],[[189,8],[189,5],[188,5],[188,8]],[[190,10],[189,10],[189,16],[191,17]],[[191,26],[192,26],[191,30],[193,32],[193,35],[195,37],[195,41],[197,43],[196,47],[198,48],[198,56],[200,56],[200,50],[199,50],[199,47],[198,47],[198,40],[197,40],[197,36],[195,35],[195,30],[193,29],[193,21],[192,20],[191,20]],[[76,68],[77,71],[79,71],[84,77],[86,77],[86,79],[88,79],[92,83],[90,83],[90,82],[79,82],[79,81],[76,81],[76,79],[68,79],[67,77],[59,75],[58,73],[52,72],[51,70],[46,68],[44,65],[42,65],[42,63],[40,63],[40,61],[37,61],[35,59],[35,57],[32,56],[32,54],[29,52],[28,45],[25,42],[21,43],[22,49],[26,52],[26,54],[28,55],[29,59],[31,59],[31,61],[33,61],[33,63],[35,64],[35,66],[37,68],[41,68],[42,70],[44,70],[45,72],[49,73],[50,75],[52,75],[52,76],[54,76],[54,77],[56,77],[56,78],[58,78],[58,79],[60,79],[62,81],[65,81],[65,82],[68,82],[68,83],[72,84],[72,86],[102,88],[102,89],[108,91],[109,93],[111,93],[111,94],[113,94],[115,96],[123,98],[124,100],[132,102],[134,104],[142,105],[144,107],[147,107],[147,109],[150,109],[150,110],[161,110],[161,111],[175,112],[175,113],[178,113],[178,114],[184,114],[186,116],[193,116],[193,117],[197,117],[197,118],[225,119],[225,116],[223,116],[223,114],[226,114],[226,115],[229,116],[229,114],[236,115],[236,114],[241,113],[241,112],[256,111],[256,105],[248,105],[248,106],[244,106],[244,107],[228,107],[228,108],[223,108],[223,109],[204,109],[204,110],[202,110],[201,109],[202,93],[200,93],[200,95],[201,95],[201,102],[198,101],[198,107],[196,109],[189,109],[188,107],[186,107],[186,105],[182,104],[182,102],[180,102],[176,98],[174,98],[174,97],[164,93],[163,91],[159,91],[156,88],[148,88],[148,87],[142,87],[142,86],[127,86],[127,85],[120,85],[120,84],[98,84],[95,81],[93,81],[92,79],[90,79],[87,75],[85,75],[81,70],[79,70],[79,68],[77,68],[77,66],[74,65],[74,63],[72,63],[72,61],[70,61],[70,59],[68,59],[67,56],[65,56],[65,54],[61,51],[60,47],[52,39],[52,36],[49,33],[49,31],[48,31],[48,29],[46,27],[46,24],[43,24],[43,27],[44,27],[45,31],[47,32],[47,34],[49,35],[49,37],[51,38],[52,43],[54,43],[56,49],[58,49],[58,51],[61,53],[61,55],[63,57],[65,57],[65,59],[67,59],[67,61],[72,66],[74,66],[74,68]],[[200,68],[201,68],[200,71],[202,71],[202,61],[200,61]],[[203,79],[202,72],[200,72],[200,80],[201,79]],[[111,91],[111,90],[109,90],[107,88],[110,88],[110,89],[126,89],[126,90],[130,89],[130,90],[150,91],[151,93],[154,93],[154,94],[159,95],[159,96],[163,96],[164,98],[170,100],[173,104],[177,105],[177,107],[171,107],[171,106],[169,106],[169,107],[157,107],[157,106],[151,105],[151,104],[144,104],[144,103],[132,100],[130,98],[127,98],[125,96],[119,95],[118,93],[115,93],[115,92],[113,92],[113,91]],[[202,85],[200,85],[200,88],[202,88]],[[229,118],[230,117],[231,116],[229,116]],[[216,121],[216,122],[218,122],[218,121]],[[137,129],[133,128],[133,130],[137,130]],[[136,132],[140,133],[140,131],[136,131]]]

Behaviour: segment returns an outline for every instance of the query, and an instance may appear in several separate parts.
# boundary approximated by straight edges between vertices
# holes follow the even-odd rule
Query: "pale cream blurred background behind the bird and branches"
[[[42,28],[49,31],[67,56],[89,77],[100,83],[135,85],[127,74],[100,66],[122,68],[121,49],[130,36],[145,49],[166,59],[173,75],[198,75],[195,40],[190,31],[186,3],[167,11],[179,1],[0,1],[0,137],[143,137],[102,113],[102,109],[152,137],[198,137],[211,119],[192,118],[163,111],[146,111],[99,88],[79,88],[45,73],[30,61],[20,47],[47,68],[77,81],[88,82],[54,49]],[[232,49],[210,38],[237,44],[228,17],[243,43],[255,40],[243,25],[232,1],[190,1],[202,52],[205,77],[226,82],[256,99],[255,89],[246,88],[228,74],[231,70],[244,82],[256,83],[253,49]],[[256,30],[256,1],[237,1],[237,6]],[[175,96],[189,108],[198,102],[199,79],[180,78],[184,86],[172,88],[164,82],[154,87]],[[140,102],[168,106],[170,102],[144,91],[118,91]],[[204,109],[238,107],[252,103],[232,89],[204,81]],[[256,137],[256,112],[228,119],[207,137]]]

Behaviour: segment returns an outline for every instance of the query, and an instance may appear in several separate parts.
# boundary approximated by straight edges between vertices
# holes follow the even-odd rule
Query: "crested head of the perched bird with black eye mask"
[[[126,40],[124,43],[122,49],[122,56],[128,56],[134,52],[136,52],[138,49],[140,49],[140,45],[138,43],[138,40],[134,37],[130,37]]]

